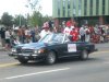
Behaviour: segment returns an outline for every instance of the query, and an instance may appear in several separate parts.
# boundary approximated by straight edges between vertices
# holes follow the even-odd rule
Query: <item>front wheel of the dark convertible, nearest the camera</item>
[[[56,62],[56,54],[53,51],[50,51],[46,57],[46,63],[47,65],[53,65]]]

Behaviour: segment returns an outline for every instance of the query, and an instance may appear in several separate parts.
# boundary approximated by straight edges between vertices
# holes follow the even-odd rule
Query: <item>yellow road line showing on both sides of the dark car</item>
[[[98,55],[98,54],[105,54],[105,52],[109,52],[109,51],[108,50],[96,51],[96,52],[93,52],[92,55]],[[20,65],[20,62],[2,63],[2,65],[0,65],[0,68],[11,67],[11,66],[15,66],[15,65]]]

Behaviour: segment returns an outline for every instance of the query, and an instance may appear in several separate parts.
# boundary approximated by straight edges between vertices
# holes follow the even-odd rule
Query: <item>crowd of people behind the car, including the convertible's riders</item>
[[[10,49],[16,44],[36,43],[39,38],[50,33],[64,33],[72,42],[104,43],[109,38],[109,24],[77,26],[75,21],[68,21],[59,27],[50,27],[49,23],[44,23],[43,27],[20,26],[19,30],[1,27],[1,45],[4,49]]]

